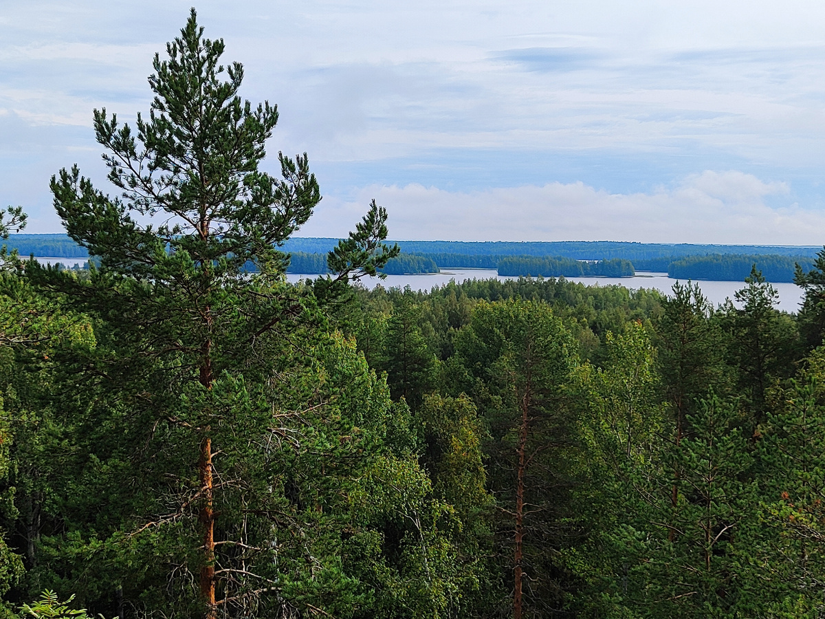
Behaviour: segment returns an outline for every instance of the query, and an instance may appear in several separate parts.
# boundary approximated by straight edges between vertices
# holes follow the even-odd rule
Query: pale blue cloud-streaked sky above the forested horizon
[[[62,232],[50,177],[107,186],[92,111],[147,112],[192,0],[0,0],[0,206]],[[309,154],[300,236],[372,198],[392,239],[825,243],[825,3],[197,2]],[[163,54],[162,54],[163,56]]]

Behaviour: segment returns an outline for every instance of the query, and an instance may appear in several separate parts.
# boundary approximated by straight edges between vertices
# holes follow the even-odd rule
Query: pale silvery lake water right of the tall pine
[[[288,275],[290,281],[304,279],[306,275]],[[409,286],[414,291],[430,291],[433,286],[443,286],[450,280],[461,283],[465,280],[488,280],[497,279],[499,281],[518,279],[514,276],[497,275],[491,269],[445,269],[441,273],[431,273],[427,275],[388,275],[387,279],[381,281],[377,277],[365,277],[361,282],[367,288],[374,288],[378,284],[385,288],[398,286],[403,288]],[[656,272],[636,272],[633,277],[567,277],[568,281],[579,281],[587,286],[598,284],[599,286],[625,286],[630,290],[639,288],[654,288],[666,294],[671,293],[675,279],[667,276],[667,273]],[[682,283],[685,283],[682,280]],[[744,281],[697,281],[702,292],[714,305],[724,303],[725,299],[733,300],[733,293],[745,286]],[[787,312],[796,312],[799,303],[802,301],[802,290],[794,284],[774,284],[779,291],[779,309]]]

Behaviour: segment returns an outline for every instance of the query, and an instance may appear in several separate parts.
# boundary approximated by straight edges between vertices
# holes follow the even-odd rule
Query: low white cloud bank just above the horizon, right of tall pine
[[[375,197],[389,211],[393,239],[822,243],[825,215],[766,204],[767,196],[788,191],[785,183],[736,171],[706,171],[670,189],[634,194],[581,182],[470,192],[371,186],[351,201],[322,201],[300,234],[346,234]]]

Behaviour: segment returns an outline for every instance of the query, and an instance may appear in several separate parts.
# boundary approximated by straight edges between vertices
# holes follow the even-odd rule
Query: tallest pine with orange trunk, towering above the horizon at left
[[[197,483],[181,493],[168,521],[192,509],[198,514],[200,603],[210,618],[247,591],[240,584],[232,593],[229,584],[243,580],[235,578],[240,572],[219,568],[219,544],[237,550],[240,542],[215,536],[215,493],[236,482],[224,479],[213,461],[232,446],[213,439],[219,434],[231,442],[230,419],[243,424],[244,410],[262,413],[238,370],[254,376],[259,356],[276,352],[266,338],[289,338],[314,313],[309,291],[285,286],[288,257],[278,246],[320,200],[305,154],[279,154],[280,178],[260,168],[276,106],[238,97],[243,67],[220,64],[223,52],[223,40],[203,37],[193,9],[167,45],[167,59],[155,55],[148,117],[139,114],[133,130],[95,111],[108,179],[120,195],[95,188],[77,166],[53,177],[51,190],[69,236],[100,266],[88,278],[28,267],[31,281],[64,293],[67,305],[105,325],[87,367],[112,392],[120,386],[121,412],[141,418],[147,440],[163,423],[182,451],[196,446]],[[319,285],[326,297],[350,276],[375,274],[397,253],[382,243],[385,220],[374,201],[330,253],[336,275]],[[167,521],[152,526],[158,522]]]

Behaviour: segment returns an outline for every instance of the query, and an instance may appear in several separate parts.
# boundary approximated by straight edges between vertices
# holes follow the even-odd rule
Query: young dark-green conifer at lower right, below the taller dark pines
[[[715,397],[686,421],[690,436],[664,448],[649,500],[634,505],[647,540],[630,603],[643,617],[752,617],[761,600],[749,565],[758,513],[747,432]]]

